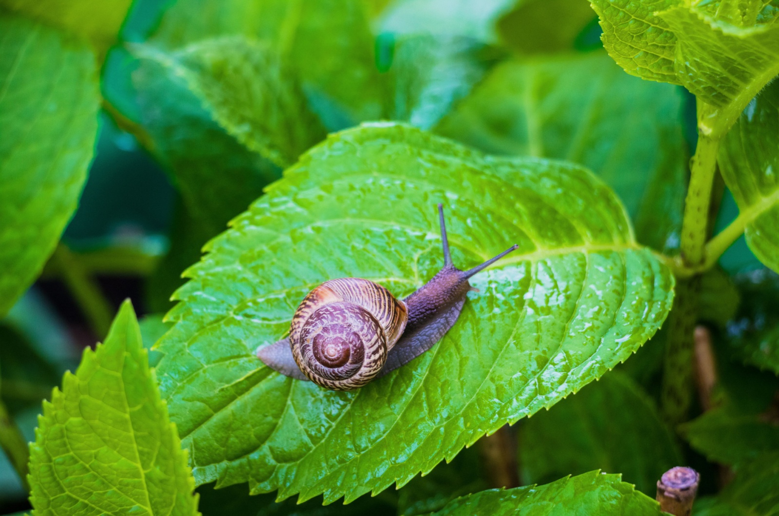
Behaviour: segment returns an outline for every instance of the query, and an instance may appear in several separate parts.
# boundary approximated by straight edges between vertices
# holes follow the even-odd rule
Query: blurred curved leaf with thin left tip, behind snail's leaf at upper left
[[[291,70],[258,41],[222,37],[172,54],[148,46],[137,53],[182,77],[227,133],[279,167],[325,136]]]

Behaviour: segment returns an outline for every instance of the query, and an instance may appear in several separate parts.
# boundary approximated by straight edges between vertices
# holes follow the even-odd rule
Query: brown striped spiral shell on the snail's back
[[[356,389],[382,370],[407,320],[405,303],[381,285],[358,277],[325,281],[295,310],[292,356],[317,385]]]

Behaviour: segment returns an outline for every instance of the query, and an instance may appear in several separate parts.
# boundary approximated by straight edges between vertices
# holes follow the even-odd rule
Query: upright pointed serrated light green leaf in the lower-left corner
[[[129,301],[104,344],[87,348],[38,417],[30,501],[53,514],[198,514],[175,426]]]

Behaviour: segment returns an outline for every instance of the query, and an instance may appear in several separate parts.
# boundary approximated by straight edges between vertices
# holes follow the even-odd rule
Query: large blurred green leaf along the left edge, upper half
[[[0,13],[0,316],[40,274],[76,210],[97,136],[92,52]]]

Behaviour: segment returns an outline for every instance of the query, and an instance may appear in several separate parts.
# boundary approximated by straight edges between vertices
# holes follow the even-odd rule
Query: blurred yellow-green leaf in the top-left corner
[[[91,41],[100,55],[116,41],[132,0],[0,0],[0,6]]]

